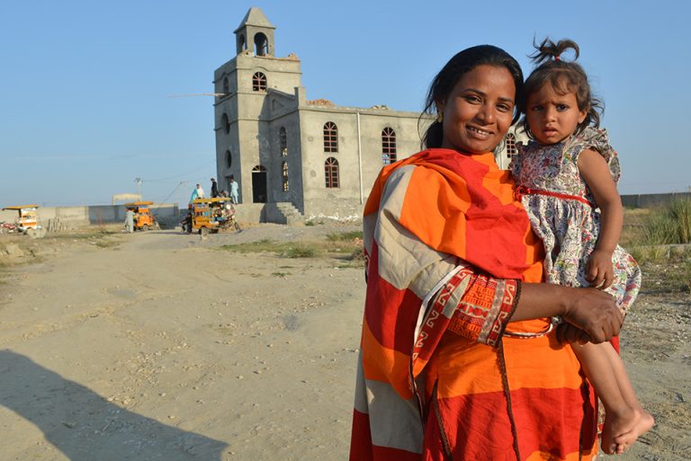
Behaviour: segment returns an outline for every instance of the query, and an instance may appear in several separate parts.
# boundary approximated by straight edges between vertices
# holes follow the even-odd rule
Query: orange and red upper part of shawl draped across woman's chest
[[[364,217],[376,214],[390,174],[419,165],[408,184],[399,223],[439,252],[454,254],[494,277],[542,277],[543,245],[514,198],[514,182],[492,154],[428,149],[385,166],[374,182]],[[532,271],[531,271],[532,270]]]

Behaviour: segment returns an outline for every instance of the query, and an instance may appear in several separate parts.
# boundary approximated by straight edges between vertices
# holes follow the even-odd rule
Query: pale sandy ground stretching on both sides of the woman
[[[36,241],[0,285],[0,460],[345,460],[363,270],[219,247],[357,228]],[[658,424],[617,459],[691,459],[690,304],[643,295],[627,319]]]

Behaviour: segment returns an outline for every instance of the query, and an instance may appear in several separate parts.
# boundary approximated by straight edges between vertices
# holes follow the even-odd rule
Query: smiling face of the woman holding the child
[[[442,147],[470,154],[490,152],[507,134],[515,103],[516,84],[506,67],[473,68],[445,101],[436,102],[437,111],[444,114]]]

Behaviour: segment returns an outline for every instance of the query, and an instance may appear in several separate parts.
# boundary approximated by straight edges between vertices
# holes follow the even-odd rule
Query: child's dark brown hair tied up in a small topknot
[[[533,46],[537,49],[534,54],[528,58],[532,58],[533,62],[538,65],[533,72],[528,75],[523,87],[523,93],[518,97],[518,111],[526,112],[528,96],[531,93],[537,92],[544,84],[551,84],[555,92],[559,94],[576,94],[576,101],[579,104],[579,111],[588,111],[585,120],[579,123],[576,129],[576,134],[579,134],[588,126],[592,125],[597,128],[600,126],[600,116],[605,111],[602,101],[600,101],[590,91],[590,84],[588,83],[588,75],[578,63],[573,61],[564,61],[561,58],[561,53],[567,49],[573,49],[575,54],[574,61],[579,58],[579,45],[573,40],[559,40],[554,43],[550,39],[544,39],[539,45],[533,42]],[[521,120],[525,134],[534,139],[533,132],[528,126],[528,122],[524,117]]]

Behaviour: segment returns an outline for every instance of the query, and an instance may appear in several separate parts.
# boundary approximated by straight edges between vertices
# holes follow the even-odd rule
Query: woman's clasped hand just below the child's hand
[[[565,341],[599,343],[619,334],[624,315],[616,306],[615,298],[597,288],[569,288],[573,294],[566,299],[561,318],[583,333],[563,327]],[[585,334],[584,334],[585,333]],[[560,332],[558,331],[558,335]]]

